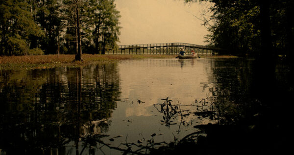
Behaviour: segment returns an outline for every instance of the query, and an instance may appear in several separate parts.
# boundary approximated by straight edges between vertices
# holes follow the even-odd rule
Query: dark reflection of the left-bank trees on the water
[[[65,143],[108,130],[119,95],[115,64],[1,71],[0,149],[65,152]]]

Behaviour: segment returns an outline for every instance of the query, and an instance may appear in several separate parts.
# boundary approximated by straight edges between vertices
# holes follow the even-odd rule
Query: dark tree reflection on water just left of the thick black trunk
[[[221,122],[232,122],[243,117],[250,102],[251,61],[228,59],[212,61],[212,76],[208,87],[209,100],[216,109]]]

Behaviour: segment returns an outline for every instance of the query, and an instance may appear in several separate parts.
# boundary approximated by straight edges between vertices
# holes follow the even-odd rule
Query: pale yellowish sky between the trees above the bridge
[[[201,25],[207,3],[185,4],[184,0],[116,0],[121,13],[122,44],[190,43],[205,45],[208,34]]]

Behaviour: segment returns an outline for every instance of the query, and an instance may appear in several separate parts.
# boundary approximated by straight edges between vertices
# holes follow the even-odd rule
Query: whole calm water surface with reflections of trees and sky
[[[234,121],[248,100],[251,64],[146,59],[0,71],[0,154],[122,154],[91,138],[120,148],[169,143],[197,125]]]

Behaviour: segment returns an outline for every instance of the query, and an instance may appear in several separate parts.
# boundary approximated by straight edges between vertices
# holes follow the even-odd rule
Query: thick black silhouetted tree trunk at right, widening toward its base
[[[253,68],[254,94],[264,104],[271,105],[275,96],[273,90],[276,88],[275,80],[275,54],[273,50],[270,32],[270,0],[259,0],[260,7],[260,33],[261,53],[255,59]]]

